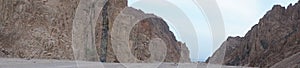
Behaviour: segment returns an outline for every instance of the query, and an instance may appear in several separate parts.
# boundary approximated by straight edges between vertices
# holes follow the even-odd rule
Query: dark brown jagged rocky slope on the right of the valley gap
[[[215,54],[226,48],[226,65],[271,67],[284,61],[291,63],[285,67],[299,67],[299,60],[287,60],[300,52],[299,11],[299,3],[275,5],[245,37],[229,37]]]

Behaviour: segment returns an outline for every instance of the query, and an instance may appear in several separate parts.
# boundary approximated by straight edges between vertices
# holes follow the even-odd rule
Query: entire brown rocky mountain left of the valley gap
[[[77,41],[74,40],[77,35],[72,30],[81,29],[73,27],[80,3],[80,0],[0,0],[0,57],[75,60],[76,57],[89,56],[85,48],[87,45],[79,46],[83,49],[79,52],[84,53],[79,56],[74,55],[77,50],[73,50],[72,46],[76,43],[72,41]],[[127,7],[127,0],[108,0],[103,4],[94,23],[95,28],[92,28],[94,34],[91,34],[94,35],[91,37],[95,39],[92,43],[96,46],[97,56],[80,60],[119,62],[112,46],[116,42],[112,42],[115,39],[111,36],[117,16],[124,13],[125,8],[136,12],[137,16],[153,15]],[[134,16],[129,18],[135,19]],[[135,58],[146,60],[155,56],[148,49],[149,41],[160,38],[167,48],[164,62],[190,62],[186,45],[175,39],[163,19],[155,16],[138,22],[129,32],[127,40],[131,43],[130,51]],[[159,45],[155,47],[162,48]]]

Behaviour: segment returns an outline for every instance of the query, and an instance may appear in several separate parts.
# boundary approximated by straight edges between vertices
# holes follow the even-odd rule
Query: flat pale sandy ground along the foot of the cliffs
[[[100,63],[69,60],[0,58],[0,68],[245,68],[205,63]]]

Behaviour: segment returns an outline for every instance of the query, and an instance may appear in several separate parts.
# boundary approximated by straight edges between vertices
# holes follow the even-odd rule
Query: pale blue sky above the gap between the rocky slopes
[[[288,6],[297,0],[216,0],[225,36],[243,37],[273,5]],[[207,3],[209,4],[209,3]],[[210,24],[194,0],[128,0],[128,5],[163,18],[176,39],[185,42],[192,61],[205,61],[218,47],[213,47]],[[226,38],[221,38],[225,41]],[[222,44],[222,43],[218,43]]]

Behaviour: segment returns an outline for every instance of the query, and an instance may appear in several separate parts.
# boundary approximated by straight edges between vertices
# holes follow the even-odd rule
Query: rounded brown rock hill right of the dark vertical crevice
[[[120,20],[121,19],[121,20]],[[117,23],[119,22],[119,23]],[[134,24],[134,22],[137,22]],[[144,12],[140,10],[136,10],[134,8],[128,7],[125,8],[120,16],[115,20],[113,23],[113,35],[117,35],[112,37],[114,48],[118,48],[120,44],[129,44],[128,47],[130,51],[126,50],[124,48],[117,49],[118,54],[133,54],[131,55],[119,55],[117,54],[117,57],[122,58],[123,60],[121,62],[155,62],[160,61],[159,58],[163,56],[165,58],[164,62],[179,62],[180,60],[182,62],[189,62],[189,56],[183,53],[189,53],[188,49],[185,47],[185,44],[182,44],[181,42],[178,42],[175,39],[175,36],[173,33],[169,30],[168,25],[165,21],[163,21],[161,18],[153,15],[153,14],[145,14]],[[132,27],[132,29],[130,28]],[[118,29],[121,29],[119,31]],[[126,34],[129,34],[129,37],[127,37]],[[123,36],[124,35],[124,36]],[[127,41],[124,41],[126,39],[129,39],[129,43]],[[164,47],[163,44],[156,45],[152,44],[151,42],[157,41],[157,38],[160,39],[163,44],[166,46],[166,54],[164,56],[164,51],[156,52],[156,50],[151,50],[151,45],[154,45],[154,47],[158,46],[156,49],[160,49]],[[181,48],[183,48],[181,50]],[[183,51],[187,50],[187,51]],[[153,54],[153,53],[161,53],[161,54]],[[161,56],[159,56],[161,55]],[[185,56],[181,56],[185,55]],[[121,57],[122,56],[122,57]],[[134,57],[134,58],[132,58]],[[151,57],[157,57],[157,58],[151,58]],[[180,58],[184,59],[180,59]],[[150,60],[150,61],[148,61]],[[154,60],[154,61],[151,61]]]

